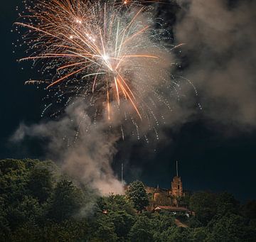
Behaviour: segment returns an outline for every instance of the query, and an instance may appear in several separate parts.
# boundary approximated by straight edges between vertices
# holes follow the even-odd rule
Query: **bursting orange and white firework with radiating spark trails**
[[[166,31],[156,31],[151,6],[145,5],[156,2],[163,1],[38,0],[36,4],[26,3],[28,14],[15,25],[28,29],[24,39],[30,55],[20,61],[41,62],[43,71],[50,73],[50,81],[31,80],[26,84],[46,83],[46,89],[55,93],[58,102],[67,97],[65,105],[72,96],[86,98],[95,110],[106,112],[110,121],[115,119],[115,112],[121,113],[129,104],[134,110],[130,109],[129,115],[138,136],[139,120],[149,121],[152,116],[158,126],[159,121],[147,102],[154,108],[156,102],[160,102],[170,109],[169,97],[165,97],[159,87],[166,89],[171,85],[166,84],[169,65],[161,67],[168,62],[169,52],[159,43],[169,37],[164,37]],[[183,43],[169,50],[181,45]],[[157,77],[161,79],[160,85],[155,80],[156,73],[152,75],[152,72],[164,73],[163,77]],[[93,111],[92,116],[96,117],[97,111]],[[122,119],[126,117],[127,110]],[[121,129],[124,136],[123,126]]]

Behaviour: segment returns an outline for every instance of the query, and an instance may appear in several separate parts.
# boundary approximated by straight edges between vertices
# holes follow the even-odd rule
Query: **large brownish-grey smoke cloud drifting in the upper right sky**
[[[184,75],[196,85],[203,115],[242,131],[256,126],[255,1],[178,1],[182,11],[176,41],[189,65]]]

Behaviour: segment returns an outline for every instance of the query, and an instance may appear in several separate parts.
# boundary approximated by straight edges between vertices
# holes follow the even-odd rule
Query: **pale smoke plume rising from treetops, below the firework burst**
[[[121,182],[111,168],[116,153],[114,145],[119,136],[106,133],[107,125],[102,121],[95,126],[85,113],[85,104],[79,101],[69,106],[59,121],[33,126],[21,124],[12,141],[22,141],[26,136],[46,139],[46,156],[62,162],[63,170],[68,175],[98,189],[103,195],[122,194]]]

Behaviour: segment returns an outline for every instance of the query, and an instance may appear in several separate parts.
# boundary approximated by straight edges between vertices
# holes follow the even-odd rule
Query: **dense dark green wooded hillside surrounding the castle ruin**
[[[0,160],[1,241],[256,241],[256,201],[196,192],[196,216],[151,213],[142,182],[100,197],[39,160]],[[176,226],[175,219],[188,228]]]

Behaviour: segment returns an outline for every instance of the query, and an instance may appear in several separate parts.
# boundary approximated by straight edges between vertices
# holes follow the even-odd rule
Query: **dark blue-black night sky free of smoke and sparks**
[[[12,45],[17,39],[17,33],[11,33],[17,18],[16,6],[21,6],[21,1],[1,3],[0,158],[43,158],[42,151],[31,141],[22,147],[9,142],[21,122],[29,125],[41,121],[45,94],[23,84],[36,70],[29,71],[29,65],[21,70],[24,65],[16,62],[23,56],[22,50],[19,52]],[[130,144],[129,148],[125,142],[119,142],[114,171],[119,175],[123,162],[127,182],[139,179],[147,185],[167,188],[178,160],[183,189],[228,191],[242,201],[256,199],[255,128],[233,128],[228,133],[226,129],[227,126],[212,121],[209,116],[196,114],[178,128],[166,128],[168,138],[159,141],[155,150],[143,142]]]

